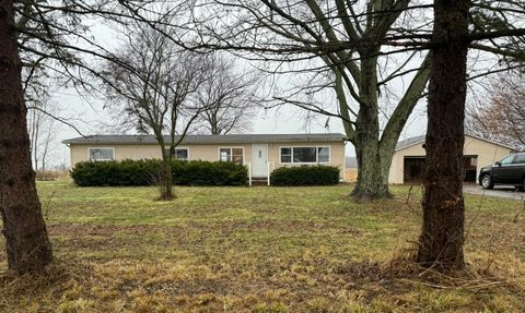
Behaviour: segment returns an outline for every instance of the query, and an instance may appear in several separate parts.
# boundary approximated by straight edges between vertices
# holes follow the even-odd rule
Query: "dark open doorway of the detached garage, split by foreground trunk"
[[[404,159],[404,182],[419,183],[423,173],[424,157],[410,156]],[[464,156],[464,180],[465,182],[476,182],[478,172],[478,156]]]

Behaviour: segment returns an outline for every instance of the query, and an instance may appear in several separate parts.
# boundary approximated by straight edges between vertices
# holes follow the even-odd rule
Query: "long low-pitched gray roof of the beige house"
[[[165,135],[166,141],[170,136]],[[175,140],[178,140],[177,136]],[[317,134],[228,134],[186,135],[180,144],[241,144],[279,142],[341,142],[347,140],[340,133]],[[156,144],[154,135],[89,135],[62,141],[63,144]]]

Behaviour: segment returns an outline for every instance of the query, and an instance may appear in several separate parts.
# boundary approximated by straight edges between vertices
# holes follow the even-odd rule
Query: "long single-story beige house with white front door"
[[[86,160],[162,157],[153,135],[92,135],[62,143],[70,148],[71,166]],[[339,167],[343,179],[345,144],[346,136],[339,133],[186,135],[175,157],[244,164],[250,177],[261,179],[283,166],[330,165]]]

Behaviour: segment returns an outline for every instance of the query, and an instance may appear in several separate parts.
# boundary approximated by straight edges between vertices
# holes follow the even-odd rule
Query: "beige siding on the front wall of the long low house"
[[[273,168],[282,166],[291,166],[289,164],[281,164],[279,159],[279,148],[290,146],[329,146],[330,147],[330,162],[329,165],[339,167],[341,179],[345,170],[345,143],[326,143],[326,142],[307,142],[307,143],[279,143],[268,144],[268,160]],[[143,159],[143,158],[160,158],[161,149],[158,145],[85,145],[85,144],[71,144],[71,166],[77,162],[89,160],[88,148],[89,147],[110,147],[115,149],[115,158],[117,160],[122,159]],[[189,159],[201,159],[217,161],[219,160],[219,148],[221,147],[242,147],[244,148],[245,162],[252,161],[252,144],[224,144],[224,145],[180,145],[180,147],[188,148]],[[299,165],[292,165],[299,166]]]

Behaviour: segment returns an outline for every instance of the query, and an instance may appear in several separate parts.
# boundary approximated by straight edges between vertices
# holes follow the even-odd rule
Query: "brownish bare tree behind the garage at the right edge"
[[[489,85],[487,97],[467,109],[466,129],[525,151],[525,76],[523,70],[499,74]]]

